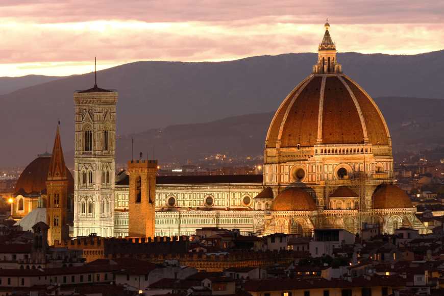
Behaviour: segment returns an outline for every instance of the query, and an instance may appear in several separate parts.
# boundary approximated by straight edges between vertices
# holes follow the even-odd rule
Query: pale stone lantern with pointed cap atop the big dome
[[[324,24],[324,28],[324,38],[322,38],[322,41],[319,43],[317,63],[313,66],[313,74],[341,73],[342,67],[336,60],[336,44],[330,36],[328,18]]]

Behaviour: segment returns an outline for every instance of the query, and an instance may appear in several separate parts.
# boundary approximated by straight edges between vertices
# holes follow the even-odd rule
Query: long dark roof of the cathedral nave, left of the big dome
[[[129,185],[126,176],[116,185]],[[156,184],[224,184],[224,183],[262,183],[262,175],[216,175],[216,176],[157,176]]]

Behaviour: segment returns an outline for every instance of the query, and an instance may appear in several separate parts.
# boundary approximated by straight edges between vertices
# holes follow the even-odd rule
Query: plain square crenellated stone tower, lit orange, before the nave
[[[131,160],[129,226],[130,237],[154,237],[157,160]]]

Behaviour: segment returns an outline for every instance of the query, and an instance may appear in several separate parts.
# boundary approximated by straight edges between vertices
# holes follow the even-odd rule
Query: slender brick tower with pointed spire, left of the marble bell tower
[[[66,211],[68,200],[68,176],[63,158],[62,143],[60,141],[59,125],[57,125],[56,139],[54,140],[48,176],[46,178],[46,223],[48,229],[48,243],[54,240],[61,241],[68,237]]]

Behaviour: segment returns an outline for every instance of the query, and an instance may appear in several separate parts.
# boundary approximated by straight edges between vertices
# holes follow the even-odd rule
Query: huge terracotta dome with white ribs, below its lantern
[[[372,98],[342,73],[310,75],[285,98],[266,147],[372,143],[389,145],[385,120]]]

